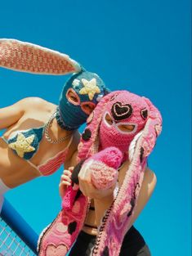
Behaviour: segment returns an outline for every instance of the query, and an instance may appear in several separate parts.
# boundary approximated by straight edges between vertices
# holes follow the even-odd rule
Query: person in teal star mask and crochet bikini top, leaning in
[[[35,177],[69,168],[78,128],[108,89],[100,77],[65,54],[14,39],[0,39],[0,66],[33,74],[70,74],[58,106],[38,97],[0,109],[0,211],[3,194]],[[70,162],[71,165],[71,162]]]

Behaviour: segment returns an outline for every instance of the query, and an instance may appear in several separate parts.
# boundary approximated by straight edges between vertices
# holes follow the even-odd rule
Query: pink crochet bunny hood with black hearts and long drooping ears
[[[123,184],[100,224],[92,251],[94,256],[117,256],[141,189],[146,159],[162,129],[162,117],[149,99],[118,91],[101,99],[87,123],[78,146],[79,160],[116,146],[124,160],[130,162]]]

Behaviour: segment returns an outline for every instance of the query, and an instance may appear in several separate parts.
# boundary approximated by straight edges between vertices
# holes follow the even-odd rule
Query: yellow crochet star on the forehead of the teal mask
[[[87,79],[82,79],[84,87],[79,91],[80,94],[87,94],[90,101],[92,101],[95,93],[100,93],[100,88],[96,85],[96,79],[88,81]]]

